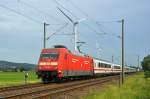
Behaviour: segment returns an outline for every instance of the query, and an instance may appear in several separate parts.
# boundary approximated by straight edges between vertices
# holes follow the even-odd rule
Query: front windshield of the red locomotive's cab
[[[58,59],[58,56],[59,56],[58,52],[51,52],[41,54],[40,58]]]

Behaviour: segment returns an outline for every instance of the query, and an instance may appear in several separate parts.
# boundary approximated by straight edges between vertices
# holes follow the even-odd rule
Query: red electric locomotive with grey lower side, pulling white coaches
[[[64,46],[43,49],[37,75],[44,83],[62,78],[93,76],[93,59],[72,54]]]

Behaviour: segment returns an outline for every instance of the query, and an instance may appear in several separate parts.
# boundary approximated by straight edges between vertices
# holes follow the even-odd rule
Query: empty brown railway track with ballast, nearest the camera
[[[74,82],[67,83],[51,83],[37,87],[28,87],[17,90],[8,90],[4,92],[0,92],[0,97],[4,99],[41,99],[48,98],[52,95],[60,94],[63,92],[75,90],[82,87],[92,86],[96,84],[103,84],[105,82],[109,82],[112,79],[118,79],[119,76],[108,76],[103,78],[96,79],[88,79],[88,80],[80,80]]]

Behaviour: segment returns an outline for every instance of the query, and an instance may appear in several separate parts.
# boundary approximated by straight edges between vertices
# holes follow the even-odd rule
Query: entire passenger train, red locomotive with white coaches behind
[[[99,74],[120,73],[121,65],[90,56],[76,55],[64,46],[55,46],[41,51],[37,75],[44,83],[67,78],[93,77]],[[125,72],[135,72],[133,67]]]

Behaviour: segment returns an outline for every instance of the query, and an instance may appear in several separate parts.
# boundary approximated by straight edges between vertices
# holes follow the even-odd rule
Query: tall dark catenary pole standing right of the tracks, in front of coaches
[[[122,22],[122,84],[124,83],[124,19],[121,20]]]

